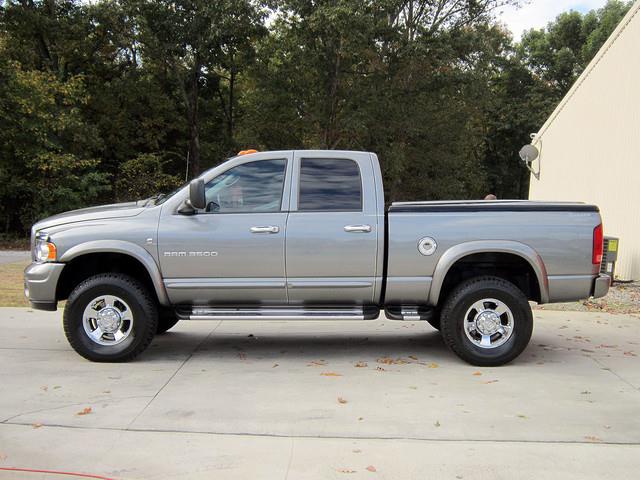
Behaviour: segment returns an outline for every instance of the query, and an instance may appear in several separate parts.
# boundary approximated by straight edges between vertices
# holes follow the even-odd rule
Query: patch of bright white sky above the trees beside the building
[[[604,6],[606,0],[525,0],[520,8],[503,7],[498,18],[513,32],[519,40],[522,32],[531,28],[542,28],[562,12],[576,10],[588,12]]]

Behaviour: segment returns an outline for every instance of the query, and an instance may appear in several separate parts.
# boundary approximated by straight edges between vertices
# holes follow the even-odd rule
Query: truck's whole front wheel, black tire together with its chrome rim
[[[124,362],[151,343],[158,308],[137,280],[118,273],[95,275],[73,289],[64,309],[71,347],[93,362]]]

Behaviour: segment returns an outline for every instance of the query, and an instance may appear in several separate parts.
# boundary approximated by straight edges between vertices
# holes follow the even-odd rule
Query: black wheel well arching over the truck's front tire
[[[56,300],[66,300],[82,281],[100,273],[123,273],[138,280],[156,298],[156,290],[146,267],[135,257],[124,253],[98,252],[75,257],[62,269]]]

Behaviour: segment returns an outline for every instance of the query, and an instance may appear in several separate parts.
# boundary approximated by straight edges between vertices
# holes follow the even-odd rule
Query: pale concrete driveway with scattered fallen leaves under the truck
[[[0,468],[291,480],[640,469],[634,316],[537,311],[531,345],[501,368],[462,363],[426,323],[386,320],[182,322],[135,362],[94,364],[60,318],[0,309]],[[28,475],[0,470],[49,478]]]

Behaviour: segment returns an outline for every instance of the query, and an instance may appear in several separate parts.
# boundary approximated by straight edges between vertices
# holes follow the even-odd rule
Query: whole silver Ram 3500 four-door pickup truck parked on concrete
[[[47,218],[25,294],[67,300],[93,361],[125,361],[179,320],[426,320],[460,358],[527,346],[529,301],[604,296],[602,223],[582,203],[446,201],[385,208],[373,153],[238,155],[167,196]]]

